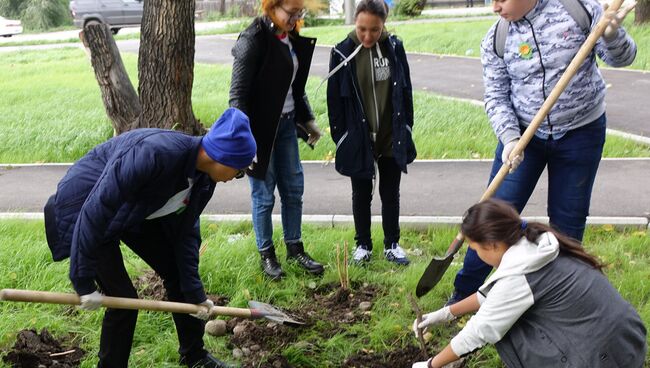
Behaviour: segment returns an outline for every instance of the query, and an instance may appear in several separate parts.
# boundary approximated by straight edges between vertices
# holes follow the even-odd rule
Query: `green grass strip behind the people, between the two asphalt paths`
[[[137,86],[135,54],[125,54]],[[325,134],[304,160],[333,157],[327,133],[326,88],[307,86]],[[206,125],[227,108],[230,67],[195,66],[193,107]],[[6,53],[0,58],[0,163],[72,162],[113,134],[86,54],[75,48]],[[481,106],[415,93],[414,138],[420,159],[490,158],[495,137]],[[605,157],[650,157],[650,146],[608,136]]]

